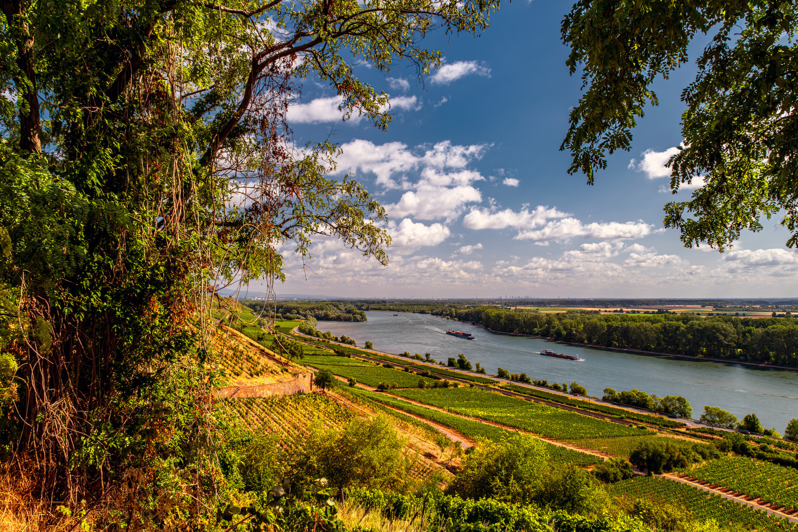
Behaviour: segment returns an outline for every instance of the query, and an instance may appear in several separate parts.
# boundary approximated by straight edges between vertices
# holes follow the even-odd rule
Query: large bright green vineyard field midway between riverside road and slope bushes
[[[581,416],[543,404],[502,396],[478,388],[400,390],[398,396],[432,404],[469,417],[495,421],[512,428],[563,441],[641,435],[626,425]]]

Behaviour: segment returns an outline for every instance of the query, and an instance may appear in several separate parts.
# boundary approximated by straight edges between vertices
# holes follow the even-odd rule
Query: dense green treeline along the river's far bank
[[[491,306],[456,310],[455,317],[501,333],[531,334],[557,341],[798,365],[798,321],[792,317],[697,317],[689,313],[543,314]]]

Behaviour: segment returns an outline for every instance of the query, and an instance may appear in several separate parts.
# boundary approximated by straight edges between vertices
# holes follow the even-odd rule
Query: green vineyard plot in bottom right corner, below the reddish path
[[[733,530],[739,527],[757,532],[798,530],[798,525],[788,522],[787,519],[770,517],[750,506],[743,506],[720,495],[708,494],[706,491],[673,480],[638,476],[610,484],[607,490],[610,495],[618,498],[650,499],[655,503],[662,501],[681,503],[695,517],[716,519],[721,526],[728,522]]]

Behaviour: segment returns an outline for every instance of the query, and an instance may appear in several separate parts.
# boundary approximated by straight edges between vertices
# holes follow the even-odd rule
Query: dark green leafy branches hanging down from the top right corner
[[[587,88],[560,147],[571,152],[569,173],[582,171],[592,184],[608,154],[628,151],[635,120],[657,104],[651,85],[687,61],[697,33],[712,31],[681,93],[684,142],[669,161],[674,192],[693,179],[703,184],[689,201],[666,205],[665,225],[681,231],[685,246],[723,250],[781,209],[787,245],[796,246],[796,30],[792,2],[579,0],[562,24],[567,66],[581,70]]]

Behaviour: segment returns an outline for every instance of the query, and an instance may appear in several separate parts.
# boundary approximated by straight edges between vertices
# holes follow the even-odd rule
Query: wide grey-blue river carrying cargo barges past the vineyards
[[[374,349],[386,353],[432,353],[438,361],[463,353],[472,364],[479,362],[488,373],[496,368],[526,373],[531,379],[549,383],[576,381],[591,396],[602,396],[604,388],[644,392],[662,396],[684,396],[696,419],[705,405],[721,407],[738,419],[751,412],[765,428],[779,433],[790,419],[798,417],[798,372],[756,368],[734,362],[692,361],[658,355],[640,355],[558,344],[539,338],[514,337],[487,329],[448,321],[429,314],[369,311],[369,321],[319,321],[318,329],[336,336],[346,334],[358,345],[372,341]],[[476,341],[445,333],[454,328],[472,333]],[[584,361],[543,357],[541,349],[579,355]]]

